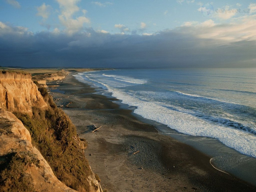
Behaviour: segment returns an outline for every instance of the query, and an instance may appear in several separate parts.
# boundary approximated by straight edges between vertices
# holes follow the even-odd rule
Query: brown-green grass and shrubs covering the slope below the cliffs
[[[63,110],[57,108],[45,88],[39,88],[48,108],[33,108],[33,116],[15,113],[29,130],[32,144],[51,166],[56,177],[68,187],[89,191],[88,176],[92,174],[84,156],[84,145],[76,127]],[[95,186],[97,187],[97,186]]]

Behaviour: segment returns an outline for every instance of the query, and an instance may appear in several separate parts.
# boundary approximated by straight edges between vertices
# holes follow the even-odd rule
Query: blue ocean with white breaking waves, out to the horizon
[[[256,68],[123,69],[74,75],[180,133],[256,157]]]

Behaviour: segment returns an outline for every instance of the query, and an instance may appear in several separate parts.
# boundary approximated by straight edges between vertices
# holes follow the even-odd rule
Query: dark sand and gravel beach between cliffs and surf
[[[85,138],[85,150],[108,191],[256,191],[256,187],[212,167],[209,156],[136,119],[114,98],[92,94],[70,74],[53,97]],[[61,90],[61,93],[58,92]],[[65,94],[62,94],[65,91]],[[112,100],[112,101],[111,101]],[[92,125],[102,126],[92,133]],[[140,150],[137,154],[132,154]]]

